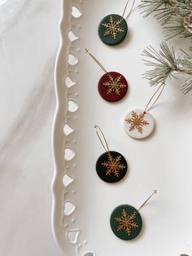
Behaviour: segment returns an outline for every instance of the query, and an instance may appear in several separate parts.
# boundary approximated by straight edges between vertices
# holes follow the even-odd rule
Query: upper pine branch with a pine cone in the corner
[[[192,38],[192,3],[191,0],[142,0],[139,8],[144,17],[154,13],[163,26],[165,38]]]

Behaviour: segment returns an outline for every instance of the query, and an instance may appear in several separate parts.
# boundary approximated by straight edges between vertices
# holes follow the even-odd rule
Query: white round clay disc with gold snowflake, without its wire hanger
[[[133,109],[124,117],[124,130],[134,139],[151,135],[155,127],[154,118],[143,109]]]

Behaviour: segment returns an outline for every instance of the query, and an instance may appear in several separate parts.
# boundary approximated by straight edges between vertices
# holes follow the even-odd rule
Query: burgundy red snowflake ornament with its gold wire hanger
[[[99,95],[108,102],[116,102],[123,99],[128,91],[128,82],[125,77],[117,72],[107,72],[94,55],[87,49],[85,49],[85,52],[88,53],[104,71],[104,75],[98,81]]]

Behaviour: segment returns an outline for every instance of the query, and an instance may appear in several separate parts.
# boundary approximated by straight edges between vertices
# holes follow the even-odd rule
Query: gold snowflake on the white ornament
[[[146,113],[141,113],[137,115],[136,112],[132,111],[131,118],[125,119],[125,121],[130,124],[129,131],[137,130],[140,134],[143,132],[143,126],[149,126],[149,122],[144,120]]]

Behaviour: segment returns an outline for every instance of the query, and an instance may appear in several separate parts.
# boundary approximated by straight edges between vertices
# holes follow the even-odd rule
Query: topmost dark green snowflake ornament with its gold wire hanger
[[[122,16],[117,14],[110,14],[101,20],[98,25],[98,36],[105,44],[109,46],[116,46],[120,42],[124,41],[124,38],[126,38],[128,33],[128,25],[126,20],[133,10],[134,2],[135,1],[133,1],[131,10],[126,17],[124,17],[124,14],[128,7],[129,1],[124,7],[124,13]]]

